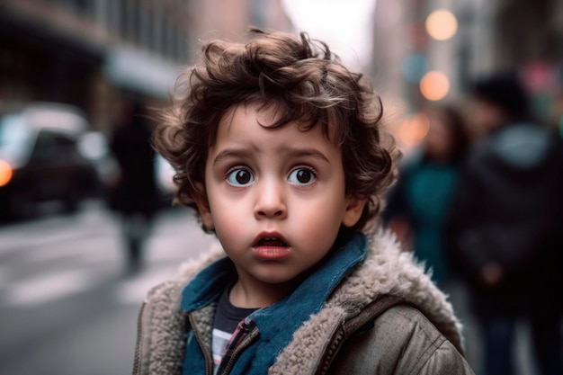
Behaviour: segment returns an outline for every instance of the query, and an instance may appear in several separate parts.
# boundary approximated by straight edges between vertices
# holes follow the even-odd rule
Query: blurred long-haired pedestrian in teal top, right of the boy
[[[383,215],[399,240],[408,243],[416,258],[432,269],[433,281],[444,288],[449,270],[443,230],[469,134],[453,104],[429,106],[424,115],[429,121],[428,133],[404,160]]]

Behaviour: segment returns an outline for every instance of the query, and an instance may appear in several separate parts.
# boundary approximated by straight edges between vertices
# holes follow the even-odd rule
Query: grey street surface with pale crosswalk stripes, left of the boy
[[[118,218],[96,201],[73,216],[0,226],[0,373],[130,373],[147,290],[205,249],[191,214],[156,219],[141,272],[126,272]]]

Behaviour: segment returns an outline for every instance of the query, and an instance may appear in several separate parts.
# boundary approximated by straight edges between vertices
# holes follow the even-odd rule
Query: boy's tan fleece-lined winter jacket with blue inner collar
[[[344,246],[344,251],[309,275],[285,303],[268,307],[278,305],[283,319],[270,322],[267,314],[262,320],[258,314],[255,320],[260,331],[250,328],[250,344],[235,366],[239,361],[242,364],[232,373],[264,373],[265,367],[256,369],[255,362],[264,361],[270,340],[283,341],[287,337],[287,343],[281,351],[278,348],[273,362],[266,366],[269,374],[473,374],[460,354],[460,323],[442,292],[413,262],[411,254],[400,251],[389,233],[380,231],[369,238],[354,237],[353,246]],[[219,259],[222,256],[221,251],[213,251],[186,264],[178,280],[167,281],[149,292],[139,316],[135,374],[181,374],[186,342],[193,355],[186,363],[198,362],[199,369],[207,367],[207,373],[211,373],[210,332],[216,302],[190,299],[186,290],[195,283],[192,290],[208,288],[206,293],[213,294],[209,293],[215,288],[212,284],[223,277],[216,272],[219,268],[209,273],[217,277],[207,286],[200,284],[198,277],[218,264],[228,264]],[[334,277],[330,278],[330,274]],[[303,291],[308,299],[291,299]],[[388,295],[404,303],[389,308],[375,320],[363,321],[362,314]],[[186,299],[192,304],[189,313],[181,308],[186,308]],[[307,315],[307,309],[317,305],[318,310]],[[301,317],[303,322],[299,322]],[[296,321],[294,328],[286,329]],[[199,353],[189,350],[194,335],[203,346]]]

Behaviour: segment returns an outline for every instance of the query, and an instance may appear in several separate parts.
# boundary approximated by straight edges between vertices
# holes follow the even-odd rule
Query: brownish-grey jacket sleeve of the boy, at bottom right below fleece
[[[400,305],[348,339],[330,374],[475,375],[468,362],[416,308]]]

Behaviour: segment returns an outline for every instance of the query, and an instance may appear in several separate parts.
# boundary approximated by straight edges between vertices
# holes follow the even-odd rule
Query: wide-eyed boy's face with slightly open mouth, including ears
[[[238,105],[219,123],[205,167],[208,201],[199,201],[246,288],[275,287],[318,263],[341,224],[353,226],[365,200],[347,196],[336,147],[316,126],[278,129],[273,112]],[[208,203],[208,204],[206,204]]]

